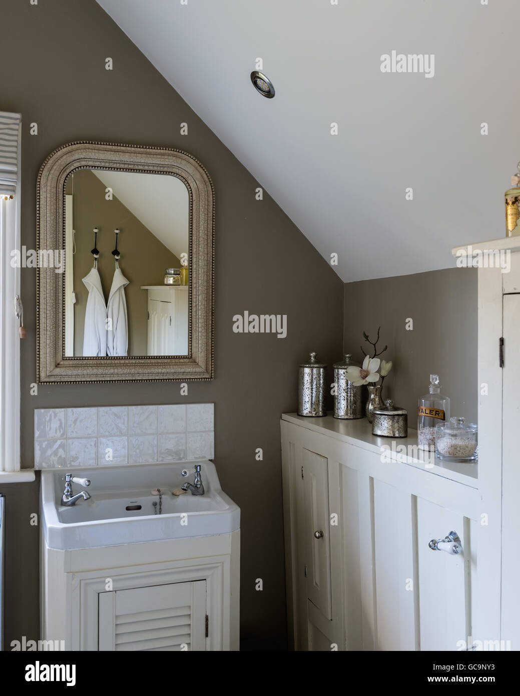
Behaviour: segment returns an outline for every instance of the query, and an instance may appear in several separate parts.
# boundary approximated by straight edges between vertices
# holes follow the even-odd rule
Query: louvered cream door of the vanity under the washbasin
[[[99,594],[100,650],[205,650],[206,581]]]

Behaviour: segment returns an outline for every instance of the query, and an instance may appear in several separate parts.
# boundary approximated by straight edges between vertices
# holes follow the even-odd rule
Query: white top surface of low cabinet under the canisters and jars
[[[282,413],[282,420],[379,455],[384,453],[383,448],[386,445],[388,448],[386,457],[389,461],[402,461],[404,464],[409,464],[427,473],[478,489],[478,464],[441,461],[437,457],[429,459],[430,453],[418,450],[417,431],[411,428],[408,429],[408,437],[386,438],[372,435],[372,425],[366,418],[342,420],[334,418],[330,414],[322,418],[310,418],[298,416],[297,413]]]

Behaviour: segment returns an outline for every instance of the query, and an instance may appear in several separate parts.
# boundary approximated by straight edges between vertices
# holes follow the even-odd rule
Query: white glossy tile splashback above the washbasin
[[[214,404],[35,409],[34,468],[212,459]]]

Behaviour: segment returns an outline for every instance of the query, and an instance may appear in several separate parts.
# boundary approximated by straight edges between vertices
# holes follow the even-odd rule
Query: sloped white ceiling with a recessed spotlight
[[[342,280],[451,267],[452,246],[503,236],[517,1],[97,1],[324,258],[338,253]],[[393,50],[434,54],[434,77],[381,72]],[[251,85],[258,57],[274,99]]]

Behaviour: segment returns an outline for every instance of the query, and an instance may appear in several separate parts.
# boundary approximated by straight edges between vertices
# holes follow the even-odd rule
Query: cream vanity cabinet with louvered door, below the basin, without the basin
[[[42,544],[42,638],[66,650],[238,650],[239,533]]]

